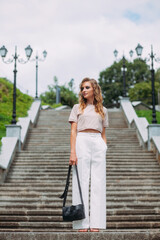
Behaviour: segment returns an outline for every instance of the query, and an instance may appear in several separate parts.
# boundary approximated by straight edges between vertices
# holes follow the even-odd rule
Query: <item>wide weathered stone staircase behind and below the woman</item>
[[[70,109],[41,110],[25,149],[16,154],[0,185],[0,240],[160,239],[160,167],[143,150],[120,110],[109,110],[107,229],[77,233],[62,221],[70,156]],[[71,185],[67,204],[71,204]],[[98,234],[98,235],[97,235]],[[18,238],[19,237],[19,238]]]

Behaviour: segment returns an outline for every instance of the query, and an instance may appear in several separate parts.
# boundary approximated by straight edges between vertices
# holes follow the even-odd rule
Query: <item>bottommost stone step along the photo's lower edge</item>
[[[123,230],[102,230],[99,233],[78,233],[76,230],[67,230],[63,229],[63,232],[57,233],[57,229],[46,229],[43,232],[40,232],[39,229],[34,229],[35,232],[27,232],[26,229],[18,230],[19,232],[16,232],[11,230],[10,228],[2,229],[4,232],[0,232],[0,239],[3,240],[15,240],[15,239],[32,239],[32,240],[42,240],[42,239],[49,239],[49,240],[68,240],[68,239],[85,239],[85,240],[117,240],[117,239],[123,239],[123,240],[156,240],[160,238],[160,233],[154,231],[154,230],[148,230],[144,231],[143,229],[138,230],[127,230],[123,232]],[[0,230],[1,231],[1,230]],[[133,232],[134,231],[134,232]]]

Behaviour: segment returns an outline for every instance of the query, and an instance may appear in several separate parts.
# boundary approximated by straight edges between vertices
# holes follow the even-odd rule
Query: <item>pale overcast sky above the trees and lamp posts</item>
[[[160,0],[0,0],[0,47],[17,45],[20,57],[30,44],[32,58],[48,52],[39,62],[39,94],[53,84],[75,80],[75,91],[84,77],[98,80],[99,73],[114,61],[113,51],[129,51],[140,43],[143,57],[154,52],[160,57]],[[160,64],[155,65],[156,68]],[[13,63],[0,59],[0,76],[13,82]],[[17,85],[35,96],[35,62],[18,63]]]

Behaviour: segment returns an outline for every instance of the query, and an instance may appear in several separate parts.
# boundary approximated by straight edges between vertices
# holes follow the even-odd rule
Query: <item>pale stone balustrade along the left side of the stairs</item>
[[[30,125],[36,125],[40,107],[41,101],[35,100],[28,111],[28,117],[19,118],[16,124],[6,125],[6,137],[2,138],[0,148],[0,182],[4,182],[16,151],[23,148]]]

